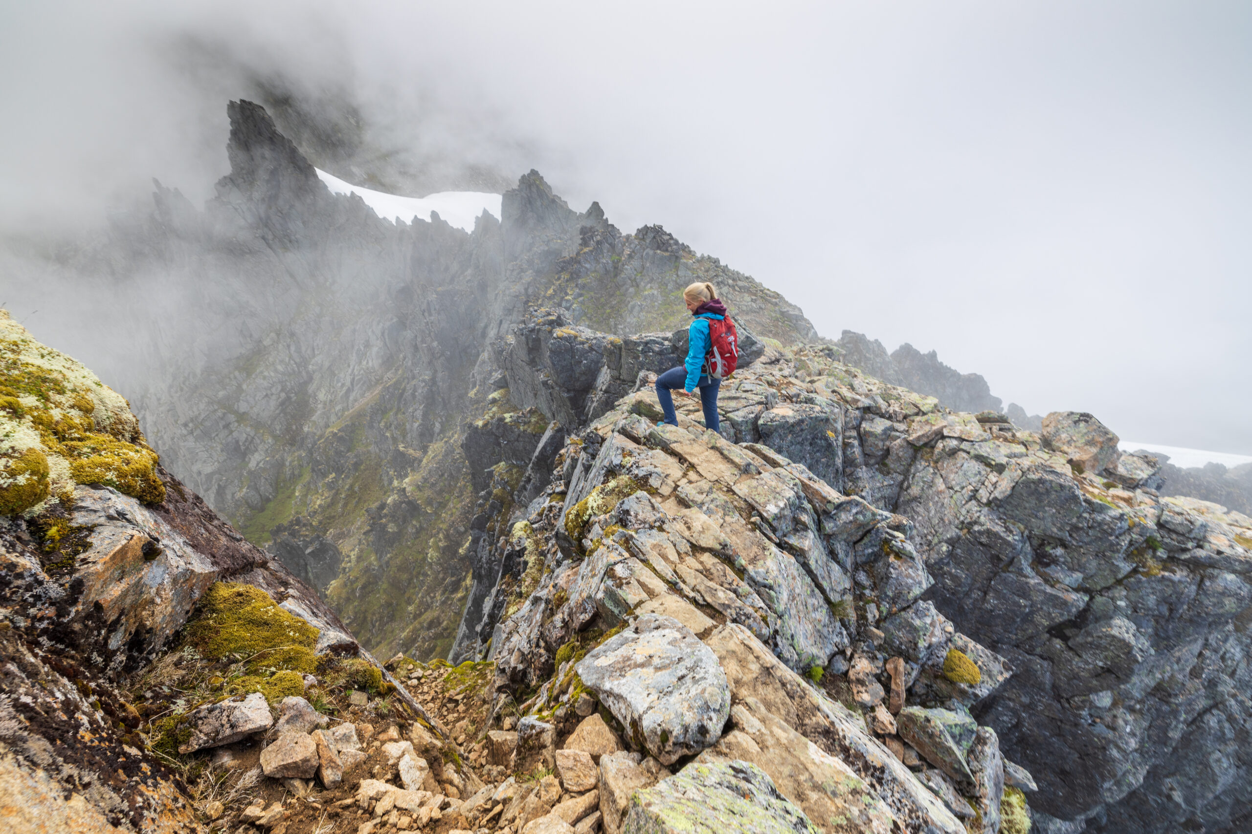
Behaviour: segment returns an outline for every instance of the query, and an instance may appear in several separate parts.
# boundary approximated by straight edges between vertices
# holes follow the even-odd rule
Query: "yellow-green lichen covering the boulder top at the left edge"
[[[165,486],[125,398],[0,310],[0,514],[104,484],[156,504]]]

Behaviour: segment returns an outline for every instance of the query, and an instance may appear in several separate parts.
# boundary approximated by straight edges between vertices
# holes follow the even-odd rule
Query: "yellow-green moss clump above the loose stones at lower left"
[[[265,591],[237,583],[214,583],[200,600],[199,616],[187,626],[188,643],[202,656],[234,656],[252,673],[269,668],[313,674],[319,634]]]

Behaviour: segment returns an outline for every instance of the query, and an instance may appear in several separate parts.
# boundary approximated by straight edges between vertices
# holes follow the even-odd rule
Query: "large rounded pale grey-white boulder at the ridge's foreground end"
[[[714,744],[730,714],[730,688],[716,655],[671,616],[640,616],[591,650],[577,671],[665,764]]]

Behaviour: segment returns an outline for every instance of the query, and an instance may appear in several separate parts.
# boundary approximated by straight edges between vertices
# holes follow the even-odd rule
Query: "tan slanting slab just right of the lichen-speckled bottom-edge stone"
[[[749,761],[795,801],[809,819],[843,820],[851,830],[891,834],[895,818],[874,786],[851,769],[779,720],[755,698],[731,708],[735,729],[696,758],[701,761]]]

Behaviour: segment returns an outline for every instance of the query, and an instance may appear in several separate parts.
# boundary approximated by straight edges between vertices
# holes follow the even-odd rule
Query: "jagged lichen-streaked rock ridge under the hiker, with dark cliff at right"
[[[606,336],[560,315],[537,314],[516,344],[545,328],[566,361],[602,363]],[[621,340],[641,390],[596,415],[555,458],[551,485],[497,523],[477,651],[496,659],[501,686],[538,690],[536,710],[572,704],[566,648],[645,611],[686,611],[677,596],[706,641],[694,623],[737,623],[793,670],[820,668],[884,743],[893,724],[874,723],[875,705],[898,659],[904,703],[968,710],[1033,774],[1040,830],[1241,830],[1252,519],[1161,496],[1157,461],[1121,455],[1089,414],[1048,415],[1037,434],[949,411],[841,364],[834,346],[736,374],[720,436],[696,403],[680,429],[656,426],[646,364],[659,339]],[[551,361],[527,373],[518,356],[510,385],[538,380],[538,408],[586,401],[570,374],[545,373]],[[950,648],[984,685],[945,676]],[[585,683],[588,671],[577,666]],[[596,694],[629,726],[615,696]],[[950,764],[893,720],[921,759]],[[830,751],[884,790],[846,746]]]

